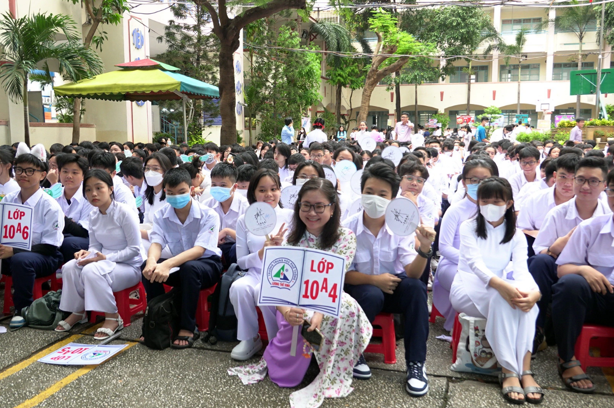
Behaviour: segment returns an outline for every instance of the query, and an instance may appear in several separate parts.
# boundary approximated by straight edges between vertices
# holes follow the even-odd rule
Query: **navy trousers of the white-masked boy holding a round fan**
[[[344,291],[356,299],[368,320],[373,323],[380,312],[403,313],[405,319],[405,361],[426,361],[426,340],[429,337],[429,306],[426,284],[397,275],[401,281],[393,294],[387,294],[372,284],[346,284]]]

